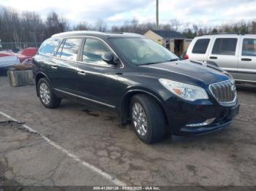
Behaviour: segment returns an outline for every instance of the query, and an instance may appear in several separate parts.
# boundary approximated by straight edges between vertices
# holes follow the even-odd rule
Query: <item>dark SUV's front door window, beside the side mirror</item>
[[[86,63],[107,64],[102,61],[102,55],[111,52],[106,45],[98,39],[86,39],[83,47],[83,61]]]

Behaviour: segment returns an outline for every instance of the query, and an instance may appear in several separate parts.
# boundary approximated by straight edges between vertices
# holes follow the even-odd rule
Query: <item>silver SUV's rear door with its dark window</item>
[[[220,68],[230,72],[234,79],[237,77],[238,42],[240,38],[240,36],[215,36],[208,55],[209,62],[214,62]]]

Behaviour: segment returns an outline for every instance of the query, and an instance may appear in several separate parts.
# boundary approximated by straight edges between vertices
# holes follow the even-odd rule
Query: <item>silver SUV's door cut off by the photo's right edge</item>
[[[242,36],[238,57],[238,80],[256,82],[256,38]]]

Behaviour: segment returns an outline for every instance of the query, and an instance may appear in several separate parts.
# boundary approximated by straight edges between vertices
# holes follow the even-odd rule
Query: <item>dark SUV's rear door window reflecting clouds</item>
[[[62,48],[61,58],[76,61],[81,42],[82,39],[66,39]]]

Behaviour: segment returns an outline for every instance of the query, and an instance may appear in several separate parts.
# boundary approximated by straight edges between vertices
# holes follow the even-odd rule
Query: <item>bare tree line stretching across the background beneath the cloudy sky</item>
[[[72,26],[64,17],[56,12],[49,12],[43,20],[37,12],[18,12],[10,7],[0,7],[0,40],[3,42],[26,43],[43,42],[53,34],[64,31],[111,31],[111,32],[131,32],[144,34],[150,29],[157,28],[155,23],[140,23],[138,19],[125,21],[122,25],[108,26],[105,20],[98,19],[95,23],[85,22]],[[240,21],[222,26],[197,26],[191,23],[180,23],[178,20],[170,20],[166,24],[161,24],[159,29],[167,31],[181,31],[188,38],[211,33],[241,33],[256,34],[256,20]]]

